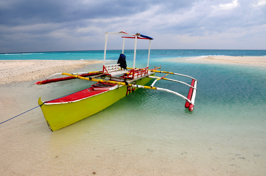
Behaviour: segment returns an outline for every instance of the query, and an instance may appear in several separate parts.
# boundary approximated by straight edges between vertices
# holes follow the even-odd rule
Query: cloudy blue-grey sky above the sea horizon
[[[0,53],[102,50],[119,31],[152,49],[266,49],[266,0],[0,0]]]

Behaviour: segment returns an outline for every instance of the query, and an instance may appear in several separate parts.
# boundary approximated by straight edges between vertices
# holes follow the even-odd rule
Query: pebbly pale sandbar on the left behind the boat
[[[0,84],[46,78],[54,73],[70,72],[97,60],[0,60]]]

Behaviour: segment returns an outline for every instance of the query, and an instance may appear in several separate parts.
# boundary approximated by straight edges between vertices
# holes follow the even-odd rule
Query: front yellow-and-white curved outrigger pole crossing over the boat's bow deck
[[[175,95],[177,95],[179,97],[182,97],[183,99],[185,99],[186,101],[188,101],[189,103],[194,105],[194,103],[192,103],[188,98],[184,97],[183,95],[181,95],[181,94],[179,94],[177,92],[169,90],[169,89],[163,89],[163,88],[160,88],[160,87],[142,86],[142,85],[136,85],[136,84],[128,84],[128,85],[126,85],[126,83],[124,83],[124,82],[110,81],[110,80],[104,80],[104,79],[95,79],[95,78],[85,78],[85,77],[81,77],[81,76],[77,76],[77,75],[72,75],[72,74],[69,74],[69,73],[62,73],[62,75],[72,76],[72,77],[76,77],[78,79],[84,79],[84,80],[88,80],[88,81],[95,81],[95,82],[102,82],[102,83],[109,83],[109,84],[117,84],[117,85],[121,85],[121,86],[137,87],[137,88],[142,88],[142,89],[161,90],[161,91],[169,92],[169,93],[175,94]]]

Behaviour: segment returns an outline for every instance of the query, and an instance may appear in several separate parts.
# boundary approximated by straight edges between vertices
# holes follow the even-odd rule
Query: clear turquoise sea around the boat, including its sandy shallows
[[[106,59],[116,62],[120,53],[107,51]],[[133,50],[124,54],[132,67]],[[62,170],[69,175],[264,175],[266,67],[193,60],[207,56],[265,57],[266,50],[151,50],[150,68],[161,65],[161,71],[198,80],[193,112],[173,94],[137,89],[103,111],[51,132],[38,107],[1,124],[0,172],[9,173],[9,168],[14,175],[46,175],[50,169],[54,175],[65,173]],[[5,59],[103,60],[103,51],[0,54],[0,60]],[[147,50],[137,51],[136,67],[146,62]],[[94,64],[73,72],[101,69],[102,64]],[[191,82],[174,75],[167,78]],[[71,80],[33,85],[36,81],[40,80],[0,85],[1,121],[38,106],[39,97],[48,101],[92,84]],[[189,90],[164,80],[155,86],[184,96]]]

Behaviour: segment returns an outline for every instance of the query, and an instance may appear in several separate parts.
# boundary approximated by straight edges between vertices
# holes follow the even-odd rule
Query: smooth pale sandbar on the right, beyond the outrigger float
[[[234,64],[252,64],[266,65],[265,56],[210,56],[202,57],[193,60],[219,62],[219,63],[234,63]]]

